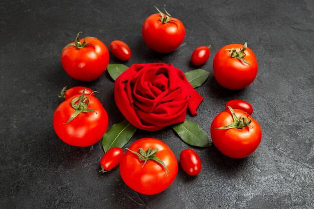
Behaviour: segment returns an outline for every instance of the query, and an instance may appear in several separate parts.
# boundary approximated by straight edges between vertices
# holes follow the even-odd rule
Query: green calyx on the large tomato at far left
[[[85,91],[86,91],[86,89],[84,89],[84,91],[83,91],[81,96],[75,97],[74,99],[72,99],[71,104],[72,104],[73,109],[75,109],[75,111],[71,115],[69,120],[66,123],[64,123],[64,124],[68,124],[69,122],[71,122],[81,112],[94,112],[94,113],[97,114],[97,112],[95,110],[87,108],[87,106],[89,104],[89,97],[85,96]],[[94,92],[92,92],[92,93],[94,93]]]

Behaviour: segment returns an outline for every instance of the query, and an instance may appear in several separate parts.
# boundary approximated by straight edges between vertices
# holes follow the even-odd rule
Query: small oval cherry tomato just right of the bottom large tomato
[[[189,175],[197,175],[202,169],[201,158],[193,149],[185,149],[181,152],[180,164]]]

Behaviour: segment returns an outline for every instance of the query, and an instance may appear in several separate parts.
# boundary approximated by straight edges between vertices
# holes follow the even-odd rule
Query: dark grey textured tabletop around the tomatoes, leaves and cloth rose
[[[168,55],[151,52],[141,38],[145,18],[158,1],[9,1],[0,2],[0,208],[313,208],[314,206],[314,2],[304,1],[167,1],[167,9],[186,27],[186,38]],[[107,46],[118,39],[132,49],[123,63],[173,63],[184,72],[192,51],[212,44],[202,66],[210,72],[197,88],[205,98],[196,117],[187,116],[210,134],[215,115],[231,99],[249,101],[263,137],[245,159],[230,159],[211,143],[195,148],[203,168],[188,176],[182,168],[164,192],[145,196],[128,188],[118,168],[98,170],[101,141],[91,147],[62,142],[52,116],[62,101],[62,87],[85,85],[109,114],[109,127],[123,120],[105,72],[83,83],[62,69],[63,47],[77,32]],[[215,81],[212,61],[230,43],[248,42],[258,61],[256,80],[229,91]],[[110,63],[121,63],[111,56]],[[136,131],[164,140],[178,160],[189,146],[171,128]]]

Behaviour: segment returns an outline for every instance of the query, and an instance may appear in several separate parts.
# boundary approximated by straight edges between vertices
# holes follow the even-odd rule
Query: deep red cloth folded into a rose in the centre
[[[115,102],[135,127],[155,131],[193,116],[203,101],[184,73],[164,63],[134,64],[114,83]]]

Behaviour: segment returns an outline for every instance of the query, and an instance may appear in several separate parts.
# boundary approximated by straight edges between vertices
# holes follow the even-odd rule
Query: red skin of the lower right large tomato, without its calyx
[[[243,110],[233,110],[238,118],[244,113]],[[245,113],[244,116],[252,120],[250,126],[253,126],[253,128],[245,126],[243,129],[216,129],[233,123],[230,110],[219,113],[212,122],[212,141],[217,149],[228,157],[247,157],[256,150],[261,142],[262,131],[259,124],[247,113]]]

